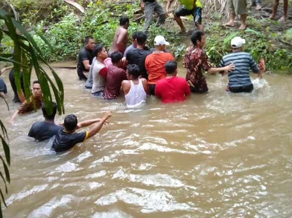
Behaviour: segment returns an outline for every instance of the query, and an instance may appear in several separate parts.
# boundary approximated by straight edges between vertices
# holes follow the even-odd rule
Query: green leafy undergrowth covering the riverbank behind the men
[[[134,9],[139,7],[138,0],[133,4],[103,0],[77,0],[85,6],[84,14],[80,14],[61,0],[10,1],[19,12],[24,25],[34,32],[34,39],[48,61],[76,59],[78,50],[82,47],[82,38],[86,35],[93,35],[97,42],[102,42],[108,48],[118,25],[118,16],[127,15],[133,20]],[[47,9],[44,10],[44,8]],[[244,49],[250,52],[256,61],[261,57],[265,58],[268,70],[283,69],[292,73],[290,69],[292,66],[291,28],[285,31],[272,31],[268,26],[280,25],[278,22],[269,19],[258,20],[249,16],[249,28],[245,31],[238,31],[222,28],[219,22],[220,16],[212,18],[211,15],[205,15],[205,19],[208,18],[209,24],[205,25],[207,35],[205,50],[214,64],[219,62],[223,54],[230,52],[230,39],[235,35],[240,35],[247,41]],[[191,18],[184,22],[192,25]],[[142,25],[143,20],[131,21],[128,29],[129,35],[133,31],[141,30]],[[193,27],[191,28],[193,29]],[[178,27],[170,18],[166,20],[164,28],[152,25],[149,29],[148,45],[152,46],[156,34],[162,34],[170,42],[170,51],[176,58],[180,58],[190,40],[189,36],[176,34],[177,30]],[[53,45],[53,48],[50,49],[36,32],[44,32],[45,38]],[[13,46],[11,41],[4,38],[2,49],[11,50],[11,46]]]

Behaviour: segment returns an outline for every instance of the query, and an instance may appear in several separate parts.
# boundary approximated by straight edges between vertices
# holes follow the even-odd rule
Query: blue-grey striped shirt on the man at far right
[[[226,54],[220,61],[220,66],[226,66],[233,63],[235,69],[228,72],[229,87],[240,87],[251,84],[249,76],[249,67],[254,73],[259,71],[252,56],[247,52],[233,52]]]

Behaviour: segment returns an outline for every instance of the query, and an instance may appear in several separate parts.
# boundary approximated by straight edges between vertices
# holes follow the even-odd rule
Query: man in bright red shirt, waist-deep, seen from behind
[[[163,103],[184,101],[184,97],[190,94],[190,90],[184,78],[176,77],[176,62],[167,61],[165,71],[167,76],[156,82],[155,95],[161,98]]]

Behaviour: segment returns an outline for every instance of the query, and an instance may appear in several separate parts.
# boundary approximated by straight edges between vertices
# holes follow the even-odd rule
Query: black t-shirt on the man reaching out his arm
[[[63,131],[63,128],[58,130],[55,139],[52,143],[52,149],[56,152],[68,150],[73,147],[75,144],[84,141],[88,136],[87,131],[83,131],[80,133],[67,133]]]

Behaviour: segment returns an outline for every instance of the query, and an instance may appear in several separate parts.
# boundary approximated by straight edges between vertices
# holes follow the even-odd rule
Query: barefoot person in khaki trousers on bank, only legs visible
[[[227,0],[229,21],[226,26],[235,26],[235,15],[240,15],[239,29],[246,28],[247,0]]]

